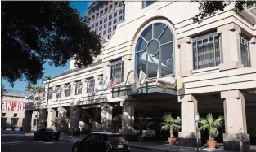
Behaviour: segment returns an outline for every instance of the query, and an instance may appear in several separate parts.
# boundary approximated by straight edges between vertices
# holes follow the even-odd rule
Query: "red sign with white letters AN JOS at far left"
[[[26,102],[2,101],[2,111],[25,111]]]

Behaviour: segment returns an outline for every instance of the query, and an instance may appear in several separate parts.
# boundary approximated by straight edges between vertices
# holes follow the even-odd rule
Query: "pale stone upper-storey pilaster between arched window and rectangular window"
[[[177,58],[178,60],[181,60],[180,62],[176,63],[176,65],[178,64],[178,67],[180,67],[180,69],[177,69],[177,72],[181,70],[182,76],[192,76],[192,70],[194,65],[193,51],[191,51],[192,38],[184,37],[182,39],[179,39],[177,41],[177,45],[179,45],[180,47],[180,52],[177,54]]]

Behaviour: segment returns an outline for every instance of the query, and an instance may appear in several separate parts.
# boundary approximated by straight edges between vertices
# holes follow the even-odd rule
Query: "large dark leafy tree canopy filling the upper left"
[[[1,3],[1,75],[12,86],[24,79],[36,84],[47,59],[58,67],[73,58],[83,67],[101,53],[101,38],[70,2]]]

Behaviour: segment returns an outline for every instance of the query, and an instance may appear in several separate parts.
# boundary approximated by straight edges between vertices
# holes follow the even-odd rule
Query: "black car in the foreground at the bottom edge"
[[[74,141],[72,152],[130,152],[128,141],[117,133],[93,132],[79,141]]]

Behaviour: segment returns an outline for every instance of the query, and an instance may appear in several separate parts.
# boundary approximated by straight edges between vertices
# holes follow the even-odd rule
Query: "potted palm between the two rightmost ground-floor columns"
[[[200,124],[200,130],[208,130],[209,131],[209,140],[207,141],[207,144],[210,149],[215,149],[217,141],[214,141],[215,137],[218,137],[218,128],[221,128],[223,126],[223,117],[218,116],[218,119],[214,119],[213,115],[209,113],[206,116],[206,119],[201,118],[198,122]]]

